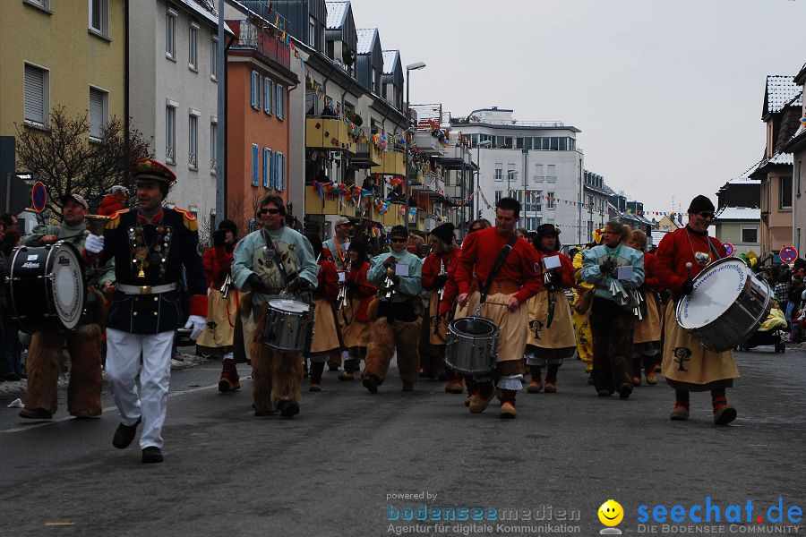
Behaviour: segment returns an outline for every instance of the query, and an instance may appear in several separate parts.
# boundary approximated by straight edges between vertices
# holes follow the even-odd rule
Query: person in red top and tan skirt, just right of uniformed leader
[[[232,285],[232,255],[238,242],[238,227],[232,220],[222,220],[213,234],[213,247],[204,252],[204,277],[207,280],[207,326],[196,340],[196,353],[221,357],[219,392],[241,388],[233,355],[240,294]]]

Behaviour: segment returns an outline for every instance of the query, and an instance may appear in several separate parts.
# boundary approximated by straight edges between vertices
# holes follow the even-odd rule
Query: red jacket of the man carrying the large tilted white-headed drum
[[[696,277],[704,265],[695,258],[695,252],[710,256],[710,262],[727,257],[725,246],[716,237],[691,231],[689,226],[667,233],[657,247],[656,273],[661,286],[680,291],[687,279]],[[689,274],[686,263],[691,263]]]

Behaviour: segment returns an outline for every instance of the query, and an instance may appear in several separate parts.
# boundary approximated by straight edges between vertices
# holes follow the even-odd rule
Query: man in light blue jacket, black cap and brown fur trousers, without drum
[[[391,251],[373,257],[366,277],[369,283],[381,286],[377,317],[373,320],[362,375],[364,388],[373,394],[386,379],[389,362],[396,350],[403,391],[414,389],[420,360],[423,261],[407,251],[408,230],[405,226],[392,227],[389,236]],[[370,313],[370,318],[373,318],[373,313]]]

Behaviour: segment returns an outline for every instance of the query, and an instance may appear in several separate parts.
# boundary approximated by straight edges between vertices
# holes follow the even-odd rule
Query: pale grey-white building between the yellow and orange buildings
[[[200,228],[210,226],[216,208],[211,142],[218,126],[218,15],[210,3],[195,0],[128,6],[132,126],[176,174],[167,203],[191,210]]]

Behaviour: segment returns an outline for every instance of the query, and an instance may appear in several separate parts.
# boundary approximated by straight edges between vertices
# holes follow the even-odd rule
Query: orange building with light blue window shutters
[[[227,52],[227,218],[245,234],[264,195],[288,202],[286,111],[298,79],[290,48],[270,27],[247,20],[227,25],[236,35]]]

